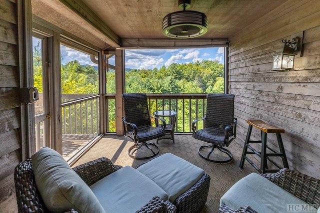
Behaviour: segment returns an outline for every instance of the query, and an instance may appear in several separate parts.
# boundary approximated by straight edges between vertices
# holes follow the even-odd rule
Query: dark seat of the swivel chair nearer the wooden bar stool
[[[224,131],[214,129],[214,128],[203,128],[196,131],[193,138],[204,141],[207,143],[211,143],[214,145],[224,146]]]

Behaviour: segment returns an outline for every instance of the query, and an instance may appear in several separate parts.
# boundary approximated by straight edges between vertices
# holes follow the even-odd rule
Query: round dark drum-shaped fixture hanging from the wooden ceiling
[[[185,10],[190,7],[191,0],[178,0],[182,11],[164,16],[162,33],[170,38],[194,38],[207,32],[206,15],[202,12]]]

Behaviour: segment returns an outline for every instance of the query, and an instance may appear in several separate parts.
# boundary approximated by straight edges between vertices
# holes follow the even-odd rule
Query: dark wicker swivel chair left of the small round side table
[[[150,115],[145,93],[126,93],[122,94],[122,98],[124,135],[134,142],[134,145],[128,150],[128,155],[133,159],[148,159],[156,156],[159,153],[159,147],[147,141],[165,135],[165,121]],[[159,119],[163,124],[162,128],[152,127],[151,118]],[[150,155],[141,157],[137,155],[137,151],[143,146],[150,151]]]

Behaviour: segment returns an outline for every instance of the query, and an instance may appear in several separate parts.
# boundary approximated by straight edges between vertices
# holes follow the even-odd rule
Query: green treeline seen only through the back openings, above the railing
[[[210,60],[172,63],[159,69],[131,69],[125,72],[125,92],[223,93],[223,73],[223,64]],[[114,71],[106,76],[106,92],[115,93]]]

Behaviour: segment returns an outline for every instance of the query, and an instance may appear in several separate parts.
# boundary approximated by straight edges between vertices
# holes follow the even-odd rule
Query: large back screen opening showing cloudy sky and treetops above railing
[[[223,93],[224,48],[125,50],[125,92]]]

